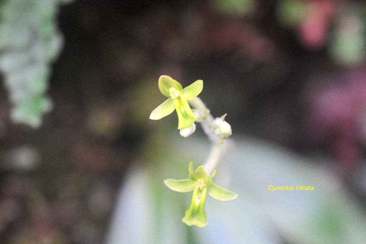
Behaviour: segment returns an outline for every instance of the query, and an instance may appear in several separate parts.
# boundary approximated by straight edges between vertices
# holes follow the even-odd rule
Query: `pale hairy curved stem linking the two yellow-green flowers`
[[[216,168],[221,157],[224,155],[226,143],[220,143],[221,139],[215,134],[217,125],[214,123],[214,117],[210,114],[210,110],[206,108],[202,100],[196,97],[192,100],[189,100],[188,103],[195,108],[194,112],[197,115],[197,121],[201,123],[203,131],[211,141],[209,157],[206,159],[205,164],[203,164],[206,172],[210,175],[214,168]]]

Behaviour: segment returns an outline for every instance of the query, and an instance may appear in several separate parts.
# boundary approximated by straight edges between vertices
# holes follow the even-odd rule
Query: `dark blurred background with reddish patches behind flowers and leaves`
[[[0,243],[104,240],[147,138],[176,131],[176,116],[148,119],[163,74],[183,87],[202,79],[201,99],[235,135],[332,159],[365,203],[365,13],[348,0],[60,5],[41,127],[13,123],[0,91]]]

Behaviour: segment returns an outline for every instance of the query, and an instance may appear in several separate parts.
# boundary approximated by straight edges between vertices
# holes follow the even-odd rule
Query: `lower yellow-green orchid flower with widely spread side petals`
[[[221,201],[233,200],[237,198],[238,195],[212,183],[212,177],[215,176],[216,170],[212,172],[210,177],[207,177],[206,170],[205,168],[203,168],[203,166],[199,166],[196,171],[193,172],[193,162],[190,162],[188,170],[189,179],[167,179],[164,180],[164,184],[173,191],[193,191],[191,204],[186,211],[186,215],[183,217],[182,221],[189,226],[197,225],[198,227],[203,227],[207,225],[207,215],[205,213],[205,201],[207,192],[213,198]]]

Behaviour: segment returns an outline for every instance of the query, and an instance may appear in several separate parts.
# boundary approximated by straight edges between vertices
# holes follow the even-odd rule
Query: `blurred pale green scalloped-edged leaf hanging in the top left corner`
[[[57,4],[63,0],[7,0],[0,4],[0,71],[12,104],[11,118],[34,128],[52,109],[46,95],[51,63],[63,37]]]

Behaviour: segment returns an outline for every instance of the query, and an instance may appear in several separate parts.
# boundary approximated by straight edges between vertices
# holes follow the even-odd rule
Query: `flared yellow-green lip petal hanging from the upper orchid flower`
[[[175,98],[174,105],[178,115],[178,129],[190,126],[197,119],[185,97]]]

